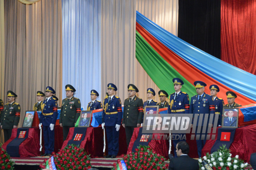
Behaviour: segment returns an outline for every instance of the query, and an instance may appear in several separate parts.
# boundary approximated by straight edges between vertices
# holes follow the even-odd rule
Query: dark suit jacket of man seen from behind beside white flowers
[[[178,158],[171,158],[169,170],[199,170],[198,160],[182,155]]]

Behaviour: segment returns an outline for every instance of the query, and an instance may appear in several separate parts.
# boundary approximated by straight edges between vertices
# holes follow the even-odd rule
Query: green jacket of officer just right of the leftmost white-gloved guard
[[[80,116],[80,113],[80,99],[74,96],[69,101],[67,98],[63,99],[61,105],[60,123],[62,123],[62,126],[74,126]]]

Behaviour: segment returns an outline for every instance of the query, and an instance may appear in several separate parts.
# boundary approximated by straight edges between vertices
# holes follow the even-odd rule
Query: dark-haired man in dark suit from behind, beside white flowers
[[[190,158],[189,145],[185,141],[180,141],[176,145],[176,153],[178,158],[171,158],[169,170],[199,170],[197,160]]]

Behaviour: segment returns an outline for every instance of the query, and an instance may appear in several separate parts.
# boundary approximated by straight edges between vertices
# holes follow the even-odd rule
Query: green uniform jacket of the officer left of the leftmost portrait
[[[2,129],[13,129],[13,126],[18,126],[19,118],[21,115],[21,106],[13,102],[10,106],[9,103],[5,104],[1,114]]]

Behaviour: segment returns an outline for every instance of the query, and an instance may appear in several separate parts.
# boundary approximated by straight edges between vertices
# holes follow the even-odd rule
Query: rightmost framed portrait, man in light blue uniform
[[[238,128],[239,108],[223,108],[222,127]]]

